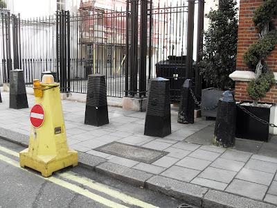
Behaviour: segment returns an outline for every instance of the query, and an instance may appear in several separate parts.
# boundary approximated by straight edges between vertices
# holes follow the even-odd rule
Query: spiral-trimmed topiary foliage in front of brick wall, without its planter
[[[249,69],[255,71],[256,78],[251,80],[247,93],[254,100],[256,105],[258,100],[264,98],[272,85],[274,85],[274,73],[267,67],[265,59],[277,44],[277,29],[272,20],[277,17],[277,1],[265,0],[257,8],[253,22],[258,29],[260,39],[252,44],[248,51],[244,53],[244,62]]]

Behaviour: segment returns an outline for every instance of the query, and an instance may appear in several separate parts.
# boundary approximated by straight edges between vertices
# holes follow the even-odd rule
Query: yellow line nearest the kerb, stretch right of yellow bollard
[[[72,180],[74,182],[78,182],[79,184],[82,184],[86,187],[89,187],[91,189],[94,189],[96,191],[100,191],[102,193],[106,193],[109,196],[112,196],[113,198],[117,198],[119,200],[122,200],[123,202],[128,203],[129,205],[136,205],[138,207],[145,207],[145,208],[157,208],[153,205],[150,205],[146,202],[143,202],[141,200],[138,200],[136,198],[132,198],[131,196],[128,196],[125,193],[120,193],[119,191],[116,191],[114,189],[110,189],[109,187],[100,184],[98,182],[95,182],[94,180],[91,180],[87,177],[80,177],[78,175],[75,175],[72,172],[69,173],[60,173],[58,174],[61,177],[64,177],[68,180]]]

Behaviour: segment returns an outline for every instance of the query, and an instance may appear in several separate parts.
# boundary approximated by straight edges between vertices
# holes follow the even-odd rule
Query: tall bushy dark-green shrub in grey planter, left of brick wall
[[[208,89],[202,90],[202,116],[216,117],[222,93],[233,89],[229,74],[235,71],[238,42],[238,8],[235,0],[220,0],[217,10],[207,17],[210,26],[204,32],[203,60],[198,66]],[[206,110],[212,107],[213,110]]]

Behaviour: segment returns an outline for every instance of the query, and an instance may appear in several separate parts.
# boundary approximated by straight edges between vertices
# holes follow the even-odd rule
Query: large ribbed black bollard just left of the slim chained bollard
[[[169,85],[165,78],[151,80],[144,135],[166,137],[171,134]]]

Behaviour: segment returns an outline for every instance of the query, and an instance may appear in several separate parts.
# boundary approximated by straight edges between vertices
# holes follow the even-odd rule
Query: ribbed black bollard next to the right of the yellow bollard
[[[107,106],[107,88],[105,76],[89,75],[87,83],[87,104],[84,123],[89,125],[105,125],[109,123]]]

